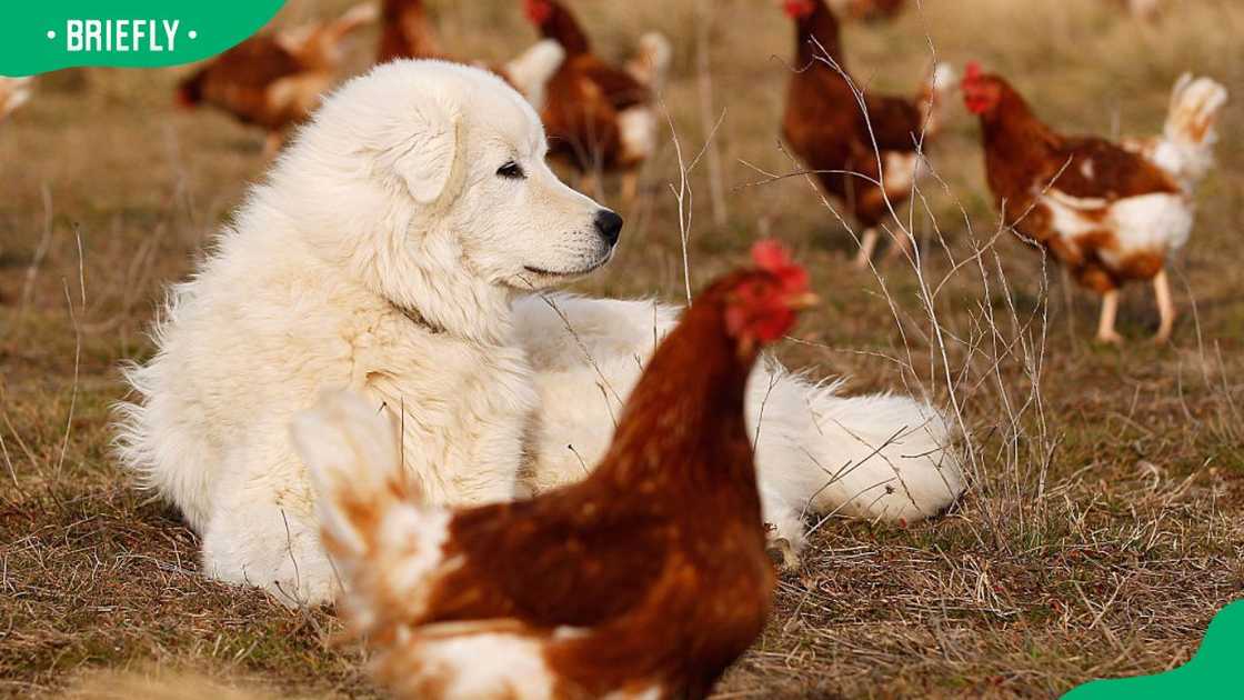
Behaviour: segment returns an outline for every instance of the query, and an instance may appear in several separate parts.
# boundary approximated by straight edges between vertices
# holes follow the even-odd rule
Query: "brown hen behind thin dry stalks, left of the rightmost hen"
[[[848,82],[838,21],[824,0],[785,0],[795,20],[796,62],[786,97],[782,136],[821,188],[841,201],[863,227],[856,265],[868,267],[883,224],[912,193],[921,149],[940,126],[953,71],[934,66],[914,98],[865,95]],[[832,66],[829,59],[837,67]],[[911,242],[892,234],[891,254],[909,254]]]

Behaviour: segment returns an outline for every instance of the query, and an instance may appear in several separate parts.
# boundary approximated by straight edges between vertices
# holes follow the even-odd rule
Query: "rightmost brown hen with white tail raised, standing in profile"
[[[1120,286],[1153,280],[1161,314],[1156,340],[1166,343],[1176,316],[1166,259],[1192,232],[1192,189],[1212,162],[1225,90],[1205,78],[1181,78],[1164,136],[1128,147],[1056,133],[1010,83],[975,64],[968,66],[963,96],[980,117],[989,188],[1003,222],[1102,295],[1097,339],[1122,341],[1115,331]]]

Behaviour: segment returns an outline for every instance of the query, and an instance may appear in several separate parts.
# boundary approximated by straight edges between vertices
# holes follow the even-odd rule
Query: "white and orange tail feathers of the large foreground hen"
[[[295,419],[292,436],[352,627],[368,634],[418,615],[443,563],[449,514],[419,503],[388,411],[356,394],[325,394]]]

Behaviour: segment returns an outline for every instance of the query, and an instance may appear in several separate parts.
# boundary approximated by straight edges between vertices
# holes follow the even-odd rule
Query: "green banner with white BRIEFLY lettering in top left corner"
[[[0,75],[76,66],[160,67],[215,56],[259,31],[285,0],[6,2]]]

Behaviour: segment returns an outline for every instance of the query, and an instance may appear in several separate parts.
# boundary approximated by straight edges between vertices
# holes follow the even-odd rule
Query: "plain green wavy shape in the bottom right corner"
[[[1149,698],[1244,698],[1244,600],[1227,605],[1209,623],[1197,655],[1164,674],[1095,680],[1064,700]]]

